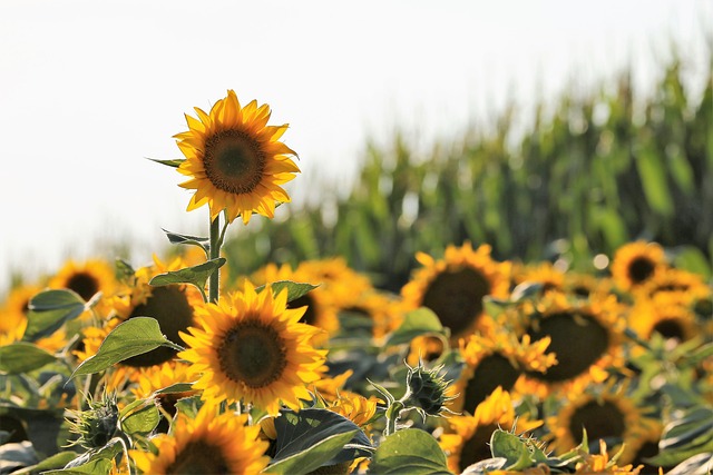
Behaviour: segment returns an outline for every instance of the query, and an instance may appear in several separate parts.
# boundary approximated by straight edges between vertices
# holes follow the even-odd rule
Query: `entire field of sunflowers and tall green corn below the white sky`
[[[301,207],[267,105],[195,108],[155,161],[204,232],[3,296],[0,473],[712,473],[713,57],[684,63],[397,135]]]

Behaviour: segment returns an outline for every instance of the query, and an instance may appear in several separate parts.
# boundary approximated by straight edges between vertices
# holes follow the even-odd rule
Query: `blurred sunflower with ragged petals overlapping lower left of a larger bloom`
[[[529,335],[518,339],[512,333],[488,336],[473,334],[461,339],[460,354],[466,367],[450,388],[453,410],[473,410],[496,388],[512,390],[525,370],[546,372],[557,359],[546,353],[550,338],[533,343]]]

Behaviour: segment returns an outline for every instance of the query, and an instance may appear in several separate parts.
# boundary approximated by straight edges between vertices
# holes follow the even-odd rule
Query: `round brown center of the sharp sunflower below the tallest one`
[[[255,320],[231,328],[217,354],[223,373],[251,388],[277,380],[287,366],[284,339],[273,327]]]

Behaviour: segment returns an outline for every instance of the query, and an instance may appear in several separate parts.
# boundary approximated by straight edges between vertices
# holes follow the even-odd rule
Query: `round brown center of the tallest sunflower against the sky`
[[[251,192],[262,180],[265,154],[250,135],[228,129],[206,139],[203,164],[216,188],[242,195]]]

